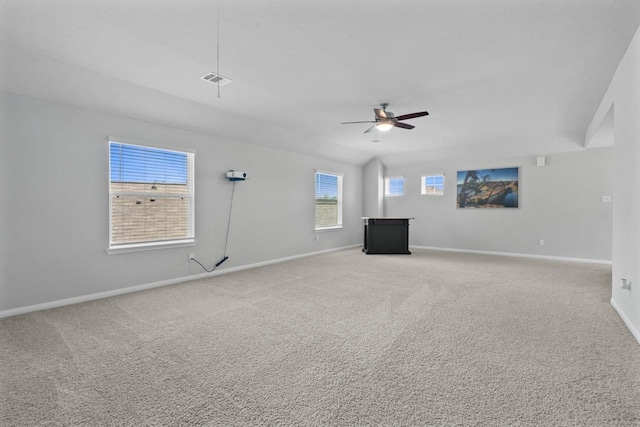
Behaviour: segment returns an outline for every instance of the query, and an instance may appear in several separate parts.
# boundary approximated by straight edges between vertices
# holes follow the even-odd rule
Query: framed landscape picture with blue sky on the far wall
[[[458,171],[458,208],[517,208],[518,168]]]

